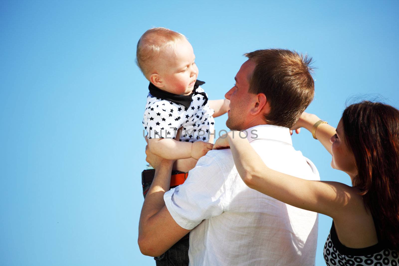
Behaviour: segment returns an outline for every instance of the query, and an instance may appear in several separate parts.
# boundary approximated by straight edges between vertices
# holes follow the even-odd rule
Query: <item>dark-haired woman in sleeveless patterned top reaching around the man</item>
[[[331,166],[348,173],[352,187],[310,181],[268,168],[247,139],[232,132],[235,166],[251,188],[298,208],[332,217],[324,245],[327,265],[399,265],[399,110],[363,101],[344,110],[337,129],[303,113],[292,128],[312,132],[332,154]]]

